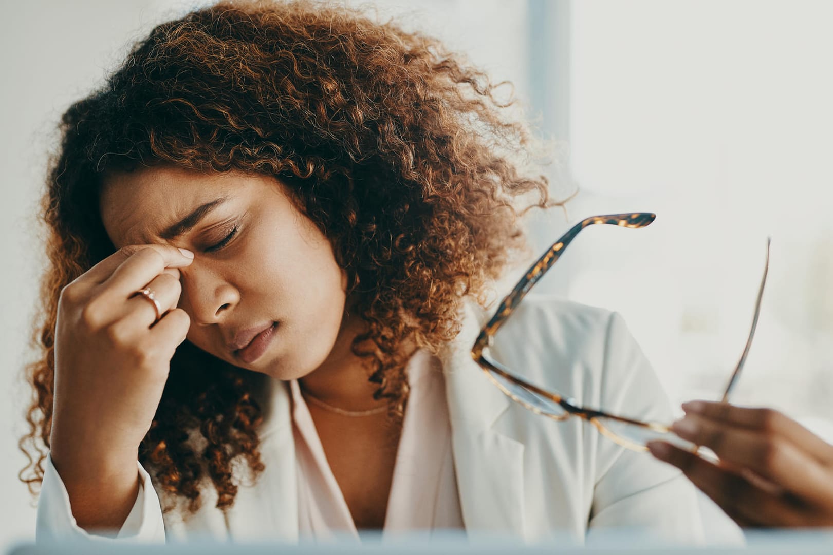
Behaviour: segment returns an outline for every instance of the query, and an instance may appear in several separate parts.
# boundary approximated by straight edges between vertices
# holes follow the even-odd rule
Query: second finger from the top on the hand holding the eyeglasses
[[[787,439],[716,423],[696,414],[687,414],[671,429],[683,439],[711,448],[721,461],[748,468],[802,498],[833,496],[833,484],[824,468]]]

